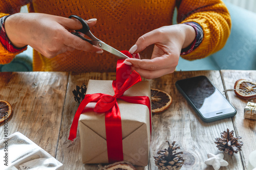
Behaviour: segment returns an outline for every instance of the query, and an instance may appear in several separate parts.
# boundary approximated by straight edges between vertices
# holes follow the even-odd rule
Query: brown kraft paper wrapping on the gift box
[[[87,94],[114,95],[112,81],[90,80]],[[125,96],[148,96],[150,84],[142,81],[124,92]],[[123,159],[134,165],[146,166],[150,152],[150,116],[147,106],[117,100],[121,114]],[[89,103],[79,118],[83,163],[109,163],[106,148],[105,114],[95,113]]]

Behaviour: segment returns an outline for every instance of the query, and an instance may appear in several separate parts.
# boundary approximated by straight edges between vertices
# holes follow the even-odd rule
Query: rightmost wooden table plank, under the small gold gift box
[[[256,82],[256,70],[221,70],[225,89],[233,89],[234,83],[239,79],[245,79]],[[230,103],[237,109],[237,115],[233,117],[233,123],[236,130],[236,135],[241,136],[241,141],[244,142],[242,147],[243,164],[248,167],[248,157],[250,153],[256,150],[256,120],[244,118],[244,107],[247,100],[240,99],[233,91],[227,91],[227,96]],[[256,103],[256,100],[250,100]]]

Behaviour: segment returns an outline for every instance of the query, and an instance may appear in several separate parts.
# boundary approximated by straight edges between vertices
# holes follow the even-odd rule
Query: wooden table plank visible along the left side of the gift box
[[[78,103],[75,102],[72,90],[76,88],[76,85],[81,86],[83,83],[88,84],[90,79],[94,80],[115,80],[115,72],[111,73],[71,73],[69,76],[69,85],[67,88],[67,97],[63,111],[62,124],[59,135],[58,149],[56,158],[63,163],[66,169],[98,169],[98,164],[83,164],[81,162],[81,147],[80,147],[80,135],[79,128],[77,131],[77,137],[72,143],[68,140],[70,127],[78,108]],[[137,169],[144,169],[144,167],[137,167]]]

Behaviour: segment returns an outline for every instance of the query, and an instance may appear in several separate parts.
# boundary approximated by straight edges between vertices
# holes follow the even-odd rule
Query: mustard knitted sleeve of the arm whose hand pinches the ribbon
[[[203,40],[184,59],[204,58],[219,51],[226,43],[231,29],[231,18],[221,0],[177,0],[178,23],[197,22],[203,29]]]

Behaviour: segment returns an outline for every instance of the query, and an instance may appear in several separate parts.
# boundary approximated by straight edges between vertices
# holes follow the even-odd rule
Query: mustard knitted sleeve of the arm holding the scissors
[[[0,18],[20,11],[20,7],[29,3],[29,0],[0,0]],[[24,50],[23,50],[24,51]],[[15,55],[22,51],[11,53],[0,43],[0,64],[7,64],[12,61]]]

